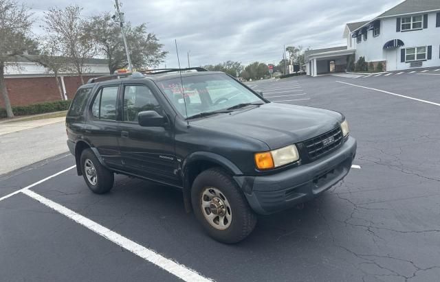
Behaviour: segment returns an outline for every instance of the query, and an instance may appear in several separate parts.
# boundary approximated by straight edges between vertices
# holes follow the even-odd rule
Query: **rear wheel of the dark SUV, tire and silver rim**
[[[113,172],[101,165],[91,149],[85,149],[80,158],[81,172],[89,189],[97,194],[107,193],[115,180]]]

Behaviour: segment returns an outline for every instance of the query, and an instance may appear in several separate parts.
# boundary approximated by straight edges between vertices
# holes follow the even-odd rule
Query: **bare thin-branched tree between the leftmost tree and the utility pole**
[[[87,21],[81,19],[82,10],[78,5],[69,5],[64,10],[50,8],[45,12],[44,22],[45,30],[61,43],[63,54],[69,57],[84,84],[83,74],[89,70],[86,62],[96,54],[96,47],[86,32]]]

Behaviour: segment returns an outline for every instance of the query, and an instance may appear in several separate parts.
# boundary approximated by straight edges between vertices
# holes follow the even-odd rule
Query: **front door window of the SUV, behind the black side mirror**
[[[137,114],[145,110],[155,110],[162,114],[162,107],[151,90],[144,85],[126,85],[124,87],[123,121],[137,122]]]

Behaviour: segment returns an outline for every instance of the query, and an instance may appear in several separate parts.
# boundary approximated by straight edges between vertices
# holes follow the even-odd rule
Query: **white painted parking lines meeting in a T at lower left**
[[[88,218],[85,218],[83,215],[80,215],[79,213],[67,209],[66,207],[63,207],[61,204],[57,204],[56,202],[44,198],[43,196],[39,195],[38,193],[35,193],[34,191],[30,191],[30,188],[39,185],[47,180],[50,180],[51,178],[54,178],[60,174],[63,174],[69,171],[70,169],[73,169],[74,167],[76,167],[76,165],[73,165],[72,167],[67,167],[67,169],[63,169],[61,172],[52,174],[51,176],[43,178],[37,181],[36,183],[33,183],[22,189],[9,193],[8,195],[1,197],[0,201],[10,198],[11,196],[17,195],[18,193],[23,193],[27,196],[30,196],[30,198],[33,198],[34,200],[41,202],[45,206],[50,207],[55,211],[58,211],[58,213],[65,215],[67,218],[73,220],[74,222],[85,226],[91,231],[94,231],[95,233],[101,235],[102,237],[108,239],[109,241],[118,244],[118,246],[121,246],[122,248],[129,250],[130,252],[133,252],[133,254],[142,257],[142,259],[145,259],[146,261],[149,261],[155,264],[156,266],[159,266],[159,268],[162,268],[163,270],[166,270],[171,274],[174,274],[179,279],[182,279],[184,281],[212,281],[212,279],[208,279],[206,277],[201,276],[201,274],[197,273],[195,270],[192,270],[175,261],[167,259],[166,257],[159,255],[154,250],[145,248],[144,246],[141,246],[140,244],[137,244],[131,241],[130,239],[111,231],[109,228],[106,228],[98,224],[97,222],[94,222],[93,220],[89,220]]]

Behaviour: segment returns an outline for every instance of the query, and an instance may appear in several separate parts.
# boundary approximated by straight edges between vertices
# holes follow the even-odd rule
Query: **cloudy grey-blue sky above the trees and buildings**
[[[367,21],[402,0],[120,0],[126,21],[146,23],[169,52],[159,67],[198,67],[226,60],[275,63],[283,46],[311,49],[347,45],[345,23]],[[114,0],[25,1],[34,12],[34,32],[41,34],[50,7],[76,3],[84,16],[114,12]]]

